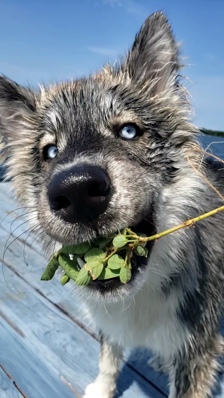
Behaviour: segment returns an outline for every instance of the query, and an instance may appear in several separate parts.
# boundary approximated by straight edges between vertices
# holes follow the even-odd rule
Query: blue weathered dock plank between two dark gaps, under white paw
[[[98,372],[98,342],[10,269],[8,276],[0,289],[2,365],[28,398],[81,398]],[[124,398],[163,397],[129,367],[118,390]]]

